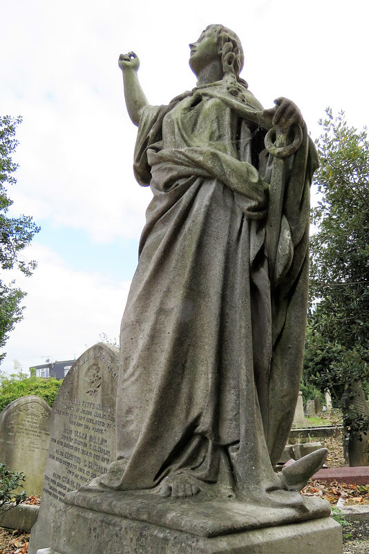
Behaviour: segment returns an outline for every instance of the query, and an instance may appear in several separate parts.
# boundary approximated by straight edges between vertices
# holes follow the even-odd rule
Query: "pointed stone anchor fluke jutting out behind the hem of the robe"
[[[310,477],[321,469],[327,454],[328,449],[319,448],[291,465],[283,467],[282,472],[278,473],[278,477],[287,490],[301,490],[306,486]]]

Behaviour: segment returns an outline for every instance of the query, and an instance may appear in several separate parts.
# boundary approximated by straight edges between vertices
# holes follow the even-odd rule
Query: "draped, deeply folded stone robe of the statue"
[[[272,463],[299,391],[314,147],[304,131],[285,161],[271,282],[263,108],[246,89],[243,116],[232,101],[218,82],[140,119],[135,176],[153,200],[120,333],[122,490],[184,472],[250,497],[281,488]]]

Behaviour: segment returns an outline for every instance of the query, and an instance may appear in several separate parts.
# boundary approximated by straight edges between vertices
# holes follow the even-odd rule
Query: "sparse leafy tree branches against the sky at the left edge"
[[[21,251],[31,242],[39,227],[32,217],[21,215],[10,217],[8,214],[13,202],[8,196],[8,187],[15,185],[17,179],[14,173],[17,163],[12,161],[11,154],[17,147],[15,139],[17,125],[21,118],[0,116],[0,267],[3,270],[17,268],[23,275],[30,276],[36,267],[36,262],[26,261],[21,257]],[[15,323],[23,319],[21,301],[26,292],[15,286],[14,280],[6,280],[3,273],[0,276],[0,348],[9,338]],[[5,353],[0,353],[0,363]]]

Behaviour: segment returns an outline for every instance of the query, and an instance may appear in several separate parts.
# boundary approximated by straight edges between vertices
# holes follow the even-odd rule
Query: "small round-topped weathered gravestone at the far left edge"
[[[50,441],[51,408],[39,396],[23,396],[0,414],[0,462],[26,474],[28,496],[41,494]]]

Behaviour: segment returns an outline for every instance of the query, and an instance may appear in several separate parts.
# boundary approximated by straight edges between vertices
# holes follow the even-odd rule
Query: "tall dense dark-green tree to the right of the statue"
[[[350,127],[343,112],[334,118],[328,109],[319,123],[315,183],[321,199],[312,209],[303,375],[341,402],[353,383],[368,379],[369,141],[366,129]],[[343,406],[346,426],[360,434],[368,422],[356,425],[349,405]]]

